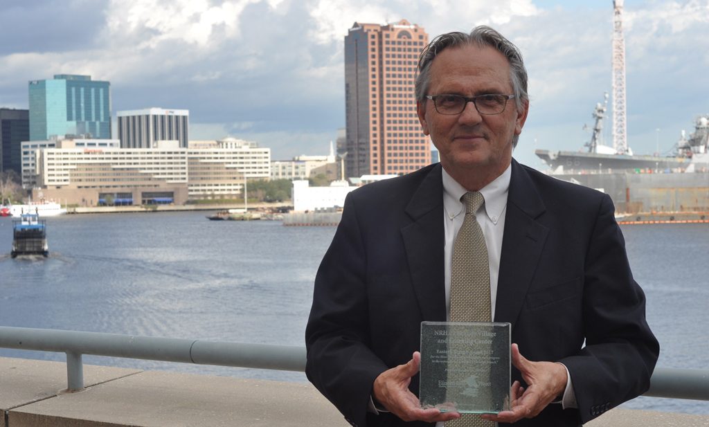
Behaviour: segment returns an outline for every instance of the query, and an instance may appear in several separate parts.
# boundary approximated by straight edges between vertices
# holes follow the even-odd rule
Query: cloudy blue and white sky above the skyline
[[[188,109],[191,139],[231,135],[273,159],[326,154],[345,126],[343,39],[355,21],[406,18],[430,38],[487,24],[530,74],[515,157],[581,149],[611,90],[613,1],[0,0],[0,106],[28,108],[29,80],[111,82],[113,114]],[[628,141],[668,152],[709,113],[709,0],[625,1]],[[609,103],[610,105],[610,103]],[[658,131],[659,129],[659,131]],[[610,121],[605,138],[610,142]]]

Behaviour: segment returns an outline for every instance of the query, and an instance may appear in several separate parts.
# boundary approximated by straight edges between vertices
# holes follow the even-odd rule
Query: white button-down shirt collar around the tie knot
[[[446,217],[452,220],[461,213],[464,213],[463,203],[460,198],[468,192],[458,181],[455,181],[446,171],[442,169],[443,176],[443,206],[445,207]],[[510,178],[512,177],[512,165],[507,166],[507,169],[494,181],[481,188],[485,199],[485,214],[493,222],[497,224],[502,212],[507,206],[507,195],[510,190]]]

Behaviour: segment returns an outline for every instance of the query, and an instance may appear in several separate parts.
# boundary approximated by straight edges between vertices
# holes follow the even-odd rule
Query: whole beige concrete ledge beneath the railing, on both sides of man
[[[0,427],[342,426],[308,383],[245,380],[103,366],[63,393],[66,364],[0,358]],[[591,427],[706,427],[709,416],[613,409]]]

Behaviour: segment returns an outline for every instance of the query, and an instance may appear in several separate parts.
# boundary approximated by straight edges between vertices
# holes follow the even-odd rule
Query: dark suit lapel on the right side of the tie
[[[495,304],[495,321],[508,321],[513,329],[549,232],[537,222],[544,212],[536,186],[513,159]]]

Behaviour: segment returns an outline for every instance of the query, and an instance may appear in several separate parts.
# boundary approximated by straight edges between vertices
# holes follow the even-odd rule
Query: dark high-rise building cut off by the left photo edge
[[[0,172],[15,171],[21,175],[21,143],[29,137],[29,110],[0,108]]]

